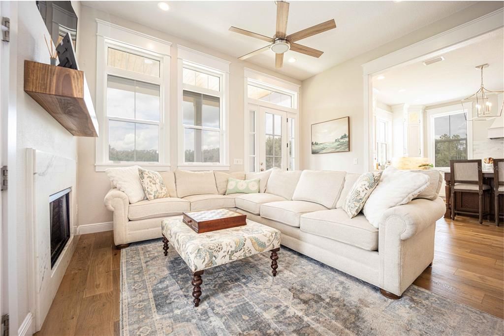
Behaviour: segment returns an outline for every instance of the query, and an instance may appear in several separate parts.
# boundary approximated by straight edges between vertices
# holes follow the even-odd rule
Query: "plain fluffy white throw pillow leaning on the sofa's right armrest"
[[[375,228],[380,226],[383,214],[418,196],[429,184],[429,177],[421,173],[388,167],[382,174],[380,183],[366,201],[362,212]]]

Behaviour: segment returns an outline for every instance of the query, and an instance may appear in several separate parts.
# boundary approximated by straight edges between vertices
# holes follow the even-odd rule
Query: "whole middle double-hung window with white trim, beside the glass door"
[[[179,46],[179,167],[229,169],[228,62]]]

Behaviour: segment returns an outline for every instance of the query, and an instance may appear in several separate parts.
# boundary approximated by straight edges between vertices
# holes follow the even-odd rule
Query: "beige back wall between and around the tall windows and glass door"
[[[80,37],[77,39],[80,69],[86,73],[86,78],[91,91],[93,102],[96,102],[96,18],[102,19],[135,31],[139,31],[172,43],[171,68],[170,68],[170,161],[171,169],[175,169],[177,161],[177,48],[180,44],[227,61],[230,61],[229,95],[229,161],[230,170],[243,170],[243,165],[233,165],[233,159],[245,159],[243,155],[243,68],[257,70],[283,80],[300,85],[301,82],[287,76],[261,68],[252,63],[241,61],[233,56],[208,49],[191,41],[182,40],[176,36],[166,34],[107,13],[82,6],[79,16]],[[85,32],[83,34],[82,32]],[[95,105],[96,106],[96,105]],[[101,111],[96,109],[99,116]],[[99,118],[98,118],[99,119]],[[78,141],[78,189],[79,189],[79,224],[95,224],[112,221],[112,213],[105,209],[103,198],[110,188],[109,180],[104,172],[95,172],[95,139],[80,138]]]

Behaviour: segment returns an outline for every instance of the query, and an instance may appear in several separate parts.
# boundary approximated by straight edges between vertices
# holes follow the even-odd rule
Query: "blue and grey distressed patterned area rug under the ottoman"
[[[192,276],[161,240],[121,251],[123,335],[502,335],[503,320],[411,286],[400,300],[286,247],[276,278],[270,253],[205,270],[201,303]]]

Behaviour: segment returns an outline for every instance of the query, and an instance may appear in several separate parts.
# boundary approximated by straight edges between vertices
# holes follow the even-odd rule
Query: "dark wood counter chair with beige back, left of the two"
[[[479,224],[483,224],[483,195],[490,192],[491,187],[483,184],[483,170],[481,169],[481,160],[450,160],[451,181],[450,189],[452,192],[451,209],[452,220],[455,220],[456,214],[478,215]],[[479,194],[478,212],[468,212],[456,210],[456,192],[474,192]]]

